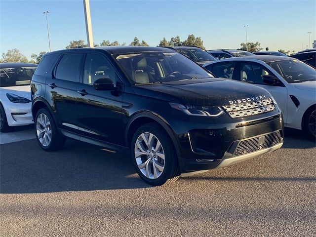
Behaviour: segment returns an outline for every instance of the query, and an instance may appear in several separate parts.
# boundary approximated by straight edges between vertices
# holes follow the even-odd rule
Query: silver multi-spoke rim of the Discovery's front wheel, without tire
[[[157,179],[163,172],[164,151],[158,138],[144,132],[135,142],[135,159],[139,170],[149,179]]]

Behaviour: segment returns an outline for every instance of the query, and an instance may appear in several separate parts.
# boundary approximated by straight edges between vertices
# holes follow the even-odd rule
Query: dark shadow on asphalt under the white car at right
[[[301,130],[288,128],[284,129],[284,143],[282,148],[309,149],[315,148],[316,142],[307,137]]]

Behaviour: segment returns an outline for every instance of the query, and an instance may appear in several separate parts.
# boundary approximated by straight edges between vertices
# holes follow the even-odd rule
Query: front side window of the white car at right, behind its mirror
[[[241,80],[244,82],[265,84],[262,80],[263,76],[272,75],[264,66],[256,63],[242,63],[240,68]]]

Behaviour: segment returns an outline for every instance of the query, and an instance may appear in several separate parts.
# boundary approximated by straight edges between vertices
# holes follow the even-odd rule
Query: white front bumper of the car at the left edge
[[[23,126],[34,123],[32,117],[32,103],[12,103],[2,101],[5,116],[9,126]]]

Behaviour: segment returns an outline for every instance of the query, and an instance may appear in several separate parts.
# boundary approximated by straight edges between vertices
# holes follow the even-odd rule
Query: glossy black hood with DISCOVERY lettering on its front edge
[[[192,79],[134,86],[135,93],[184,105],[222,106],[271,97],[262,87],[230,79]]]

